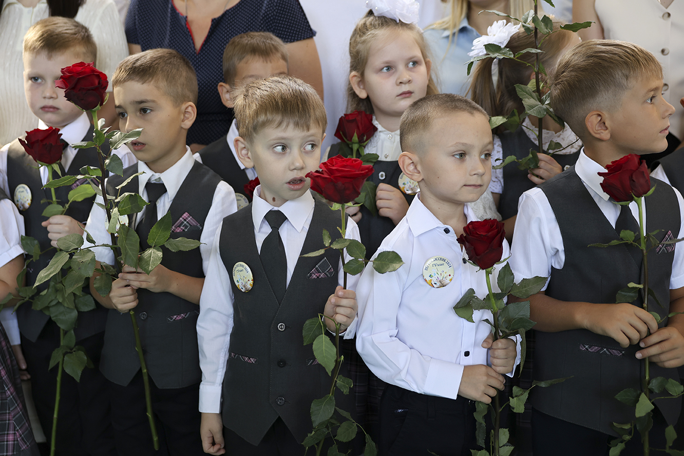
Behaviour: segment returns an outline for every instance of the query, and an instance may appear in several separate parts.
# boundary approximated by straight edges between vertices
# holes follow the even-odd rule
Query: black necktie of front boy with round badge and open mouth
[[[278,228],[287,220],[287,217],[280,211],[268,211],[265,219],[271,226],[271,232],[263,240],[259,256],[271,289],[280,304],[287,289],[287,256],[285,256],[285,245],[280,239]]]

